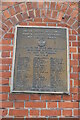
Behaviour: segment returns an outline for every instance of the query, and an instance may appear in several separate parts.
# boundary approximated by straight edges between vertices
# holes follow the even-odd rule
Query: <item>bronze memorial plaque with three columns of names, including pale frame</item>
[[[67,28],[16,27],[12,92],[69,92],[67,36]]]

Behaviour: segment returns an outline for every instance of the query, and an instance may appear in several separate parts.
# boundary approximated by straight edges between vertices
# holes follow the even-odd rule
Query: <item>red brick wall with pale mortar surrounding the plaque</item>
[[[2,2],[0,41],[0,117],[79,117],[78,3]],[[0,21],[1,23],[1,21]],[[14,28],[16,25],[69,28],[70,95],[10,93]],[[2,101],[2,102],[1,102]]]

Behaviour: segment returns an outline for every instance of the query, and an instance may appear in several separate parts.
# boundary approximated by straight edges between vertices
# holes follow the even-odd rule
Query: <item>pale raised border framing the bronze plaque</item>
[[[13,90],[13,79],[14,79],[14,66],[15,66],[15,54],[16,54],[16,38],[17,38],[17,28],[26,27],[26,28],[61,28],[66,29],[66,40],[67,40],[67,91],[66,92],[48,92],[48,91],[15,91]],[[70,61],[69,61],[69,29],[67,27],[55,27],[55,26],[25,26],[25,25],[16,25],[14,32],[14,43],[13,43],[13,59],[12,59],[12,71],[10,79],[10,93],[37,93],[37,94],[67,94],[70,95]]]

